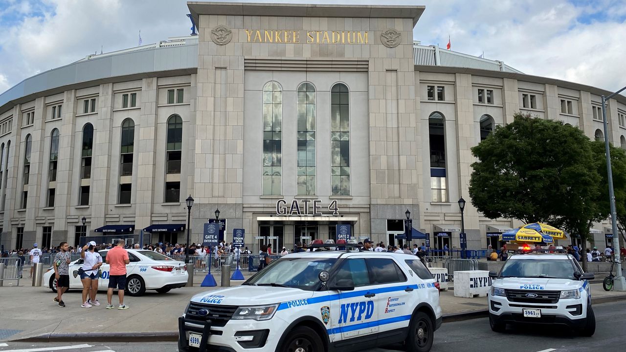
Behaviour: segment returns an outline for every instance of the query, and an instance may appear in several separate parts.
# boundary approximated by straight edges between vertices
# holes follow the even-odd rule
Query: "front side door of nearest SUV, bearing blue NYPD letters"
[[[378,319],[376,294],[364,258],[348,258],[334,277],[336,282],[354,282],[354,291],[338,291],[339,299],[331,299],[332,341],[376,333]],[[332,291],[331,291],[332,292]],[[341,336],[341,337],[340,337]]]

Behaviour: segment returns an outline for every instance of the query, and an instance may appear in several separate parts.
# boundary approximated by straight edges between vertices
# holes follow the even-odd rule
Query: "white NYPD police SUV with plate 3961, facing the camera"
[[[562,324],[582,336],[595,332],[588,280],[569,254],[548,251],[510,256],[494,278],[489,300],[491,329],[504,332],[507,323]]]

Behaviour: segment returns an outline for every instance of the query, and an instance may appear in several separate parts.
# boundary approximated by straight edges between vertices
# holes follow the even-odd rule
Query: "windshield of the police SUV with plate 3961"
[[[500,277],[545,277],[574,279],[574,267],[565,259],[509,259]]]

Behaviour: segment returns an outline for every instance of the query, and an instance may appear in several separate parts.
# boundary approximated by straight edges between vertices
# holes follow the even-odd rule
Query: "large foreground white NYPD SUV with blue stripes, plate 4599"
[[[288,254],[244,284],[193,296],[180,351],[351,351],[404,342],[429,351],[438,285],[409,254]]]

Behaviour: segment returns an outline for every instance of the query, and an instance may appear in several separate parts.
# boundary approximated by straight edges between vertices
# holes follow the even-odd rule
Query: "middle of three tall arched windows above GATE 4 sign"
[[[298,195],[316,194],[316,91],[302,83],[297,93]]]

